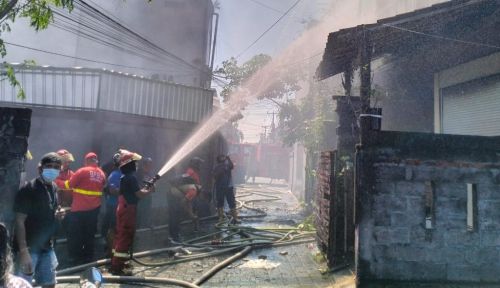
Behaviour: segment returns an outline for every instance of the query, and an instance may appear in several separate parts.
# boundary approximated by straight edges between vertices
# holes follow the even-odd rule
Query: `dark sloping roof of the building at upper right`
[[[372,44],[372,59],[387,54],[403,56],[439,40],[457,40],[456,43],[468,44],[470,49],[481,47],[484,53],[491,53],[500,50],[495,48],[500,47],[499,28],[500,0],[454,0],[436,4],[330,33],[317,76],[325,79],[344,72],[351,65],[359,66],[359,47],[364,39]],[[464,60],[463,57],[460,60]]]

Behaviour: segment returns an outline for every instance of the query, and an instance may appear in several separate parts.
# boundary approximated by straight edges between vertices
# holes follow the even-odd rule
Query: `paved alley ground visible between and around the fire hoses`
[[[255,192],[256,194],[251,194]],[[258,208],[267,213],[260,218],[245,219],[243,224],[255,228],[275,227],[288,228],[300,224],[305,215],[302,213],[297,199],[287,191],[286,186],[274,184],[249,184],[237,190],[240,200],[260,200],[248,203],[250,208]],[[241,215],[256,215],[255,210],[243,208]],[[190,225],[183,227],[184,239],[201,236],[214,231],[214,222],[206,222],[198,233],[191,232]],[[138,234],[136,251],[165,246],[167,235],[165,230],[146,231]],[[205,282],[203,287],[354,287],[353,277],[349,270],[333,274],[322,274],[324,264],[317,262],[317,247],[314,241],[276,248],[265,248],[252,251],[245,258],[218,272]],[[138,276],[155,276],[193,281],[205,271],[231,256],[193,260],[164,267],[143,267],[135,264],[134,273]],[[259,260],[259,258],[266,258]],[[165,261],[165,255],[142,258],[144,261]],[[256,267],[257,266],[261,266]],[[268,267],[262,267],[268,266]],[[57,287],[77,287],[70,284],[59,284]],[[121,286],[108,284],[106,287],[139,287],[138,285]],[[165,287],[151,285],[147,287]]]

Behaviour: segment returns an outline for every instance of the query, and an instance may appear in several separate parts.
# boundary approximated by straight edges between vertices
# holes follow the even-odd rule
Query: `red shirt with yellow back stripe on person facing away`
[[[96,165],[78,169],[66,188],[73,189],[71,211],[88,211],[101,206],[102,189],[106,184],[106,175]]]

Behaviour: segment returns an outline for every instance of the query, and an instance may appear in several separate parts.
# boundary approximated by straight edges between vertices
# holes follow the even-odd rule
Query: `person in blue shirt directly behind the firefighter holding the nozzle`
[[[120,151],[113,155],[113,165],[115,169],[111,171],[106,185],[107,189],[104,195],[106,202],[106,213],[102,219],[101,235],[106,239],[106,256],[111,257],[113,248],[113,239],[115,238],[116,227],[116,208],[118,207],[118,195],[120,195],[120,180],[122,172],[120,171]]]

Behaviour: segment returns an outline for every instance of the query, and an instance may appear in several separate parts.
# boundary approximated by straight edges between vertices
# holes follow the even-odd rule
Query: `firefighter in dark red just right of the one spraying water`
[[[189,161],[186,173],[170,181],[170,189],[167,192],[168,201],[168,231],[171,240],[179,242],[179,224],[183,214],[192,221],[194,230],[198,230],[198,216],[193,211],[193,200],[201,191],[200,168],[203,160],[194,157]]]

